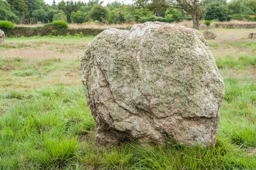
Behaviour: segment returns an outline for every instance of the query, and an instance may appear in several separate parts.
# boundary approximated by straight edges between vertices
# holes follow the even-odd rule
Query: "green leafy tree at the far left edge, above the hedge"
[[[0,0],[0,20],[19,22],[19,18],[11,11],[11,6],[6,0]]]

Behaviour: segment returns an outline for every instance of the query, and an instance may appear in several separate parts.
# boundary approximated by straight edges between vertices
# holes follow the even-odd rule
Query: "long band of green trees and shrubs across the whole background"
[[[51,23],[53,20],[116,24],[174,22],[192,20],[192,17],[195,22],[203,19],[255,21],[256,18],[255,0],[134,0],[132,4],[114,1],[106,6],[102,3],[99,0],[87,3],[62,0],[56,4],[53,0],[52,5],[48,5],[43,0],[0,0],[0,20],[23,24]]]

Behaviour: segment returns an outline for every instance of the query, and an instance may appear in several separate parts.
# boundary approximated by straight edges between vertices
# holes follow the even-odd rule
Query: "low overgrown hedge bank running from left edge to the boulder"
[[[3,29],[6,37],[32,37],[32,36],[46,36],[46,35],[97,35],[104,29],[97,28],[59,28],[52,25],[40,26],[40,27],[21,27],[15,26],[11,29]]]

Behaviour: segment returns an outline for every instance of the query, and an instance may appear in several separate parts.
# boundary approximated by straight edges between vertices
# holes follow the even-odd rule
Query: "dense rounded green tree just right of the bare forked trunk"
[[[217,19],[219,21],[226,21],[228,17],[228,8],[221,1],[214,1],[212,3],[207,4],[207,8],[205,10],[205,19],[206,20],[214,20]]]

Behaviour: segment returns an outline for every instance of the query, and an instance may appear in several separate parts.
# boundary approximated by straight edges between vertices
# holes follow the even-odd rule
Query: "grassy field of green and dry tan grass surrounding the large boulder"
[[[96,146],[79,74],[79,58],[93,37],[6,38],[0,45],[0,170],[256,169],[256,41],[247,39],[253,30],[213,31],[218,37],[207,42],[225,83],[213,148]]]

